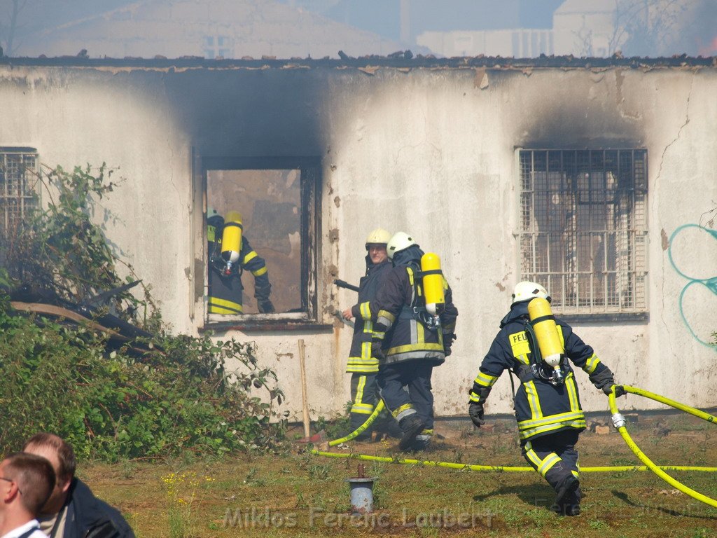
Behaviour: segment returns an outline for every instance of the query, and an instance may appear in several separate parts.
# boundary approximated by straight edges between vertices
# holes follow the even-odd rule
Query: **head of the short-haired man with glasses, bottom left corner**
[[[54,489],[54,471],[46,458],[18,452],[0,463],[0,497],[3,509],[15,505],[31,519],[40,513]]]

